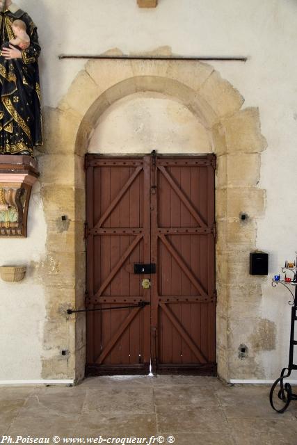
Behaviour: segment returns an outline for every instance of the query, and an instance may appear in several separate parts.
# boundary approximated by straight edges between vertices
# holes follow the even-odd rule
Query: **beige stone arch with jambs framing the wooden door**
[[[74,79],[58,108],[45,110],[46,128],[54,129],[46,133],[40,156],[40,168],[44,170],[45,215],[50,221],[54,209],[63,209],[63,213],[69,209],[70,220],[70,256],[57,259],[61,247],[58,238],[49,230],[48,258],[51,264],[59,262],[60,268],[67,270],[69,283],[65,294],[73,307],[82,307],[85,286],[83,156],[99,116],[118,99],[140,91],[161,92],[187,106],[209,131],[217,155],[217,360],[220,377],[228,380],[235,375],[238,350],[236,335],[232,333],[232,322],[240,318],[239,305],[242,303],[238,276],[241,282],[250,284],[249,291],[244,289],[245,293],[250,292],[255,298],[258,296],[258,300],[262,295],[261,279],[251,281],[248,275],[246,252],[256,248],[257,218],[264,212],[265,192],[257,184],[260,152],[266,148],[266,141],[260,131],[257,108],[241,109],[243,97],[213,67],[182,60],[91,60]],[[51,185],[53,179],[54,187]],[[248,215],[244,223],[241,212]],[[70,258],[71,254],[74,260]],[[55,292],[61,292],[61,286],[53,286],[51,278],[49,275],[49,314],[57,307]],[[249,323],[251,318],[255,323],[259,322],[257,314],[255,305],[254,312],[249,314]],[[243,319],[242,323],[246,321]],[[245,327],[250,332],[247,324]],[[69,320],[67,330],[69,337],[69,332],[73,334],[69,346],[72,355],[63,373],[68,378],[70,374],[75,375],[79,380],[83,377],[85,364],[83,316]],[[45,359],[43,376],[50,378],[47,362]],[[255,367],[255,357],[250,357],[250,366]],[[244,378],[245,373],[245,370],[236,371],[236,378]]]

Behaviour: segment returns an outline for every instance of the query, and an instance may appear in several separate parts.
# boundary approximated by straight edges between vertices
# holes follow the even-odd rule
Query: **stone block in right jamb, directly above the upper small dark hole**
[[[266,193],[261,188],[229,188],[227,192],[227,217],[239,218],[247,213],[250,218],[264,215]]]

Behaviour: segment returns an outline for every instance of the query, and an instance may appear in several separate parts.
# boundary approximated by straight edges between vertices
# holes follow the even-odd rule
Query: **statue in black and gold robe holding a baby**
[[[1,4],[2,3],[2,4]],[[38,33],[31,17],[11,0],[0,0],[0,154],[30,154],[42,145]],[[9,40],[15,19],[26,24],[30,46],[21,50]]]

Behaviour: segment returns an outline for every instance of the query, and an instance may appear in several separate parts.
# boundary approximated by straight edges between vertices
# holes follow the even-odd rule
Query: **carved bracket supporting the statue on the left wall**
[[[31,189],[38,177],[31,156],[0,155],[0,236],[27,236]]]

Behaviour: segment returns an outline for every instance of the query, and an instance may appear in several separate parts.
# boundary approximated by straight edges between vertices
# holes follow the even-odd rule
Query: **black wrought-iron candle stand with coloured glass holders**
[[[294,369],[297,369],[297,364],[294,364],[293,358],[294,358],[294,346],[297,345],[297,341],[294,340],[294,331],[295,331],[295,322],[297,321],[297,268],[296,267],[288,267],[291,266],[291,264],[288,264],[286,261],[286,266],[282,268],[282,273],[285,274],[285,279],[280,280],[280,275],[275,275],[275,279],[272,282],[272,286],[275,287],[279,283],[283,284],[288,291],[291,293],[291,296],[293,297],[293,302],[289,301],[289,305],[291,305],[291,334],[290,334],[290,348],[289,348],[289,364],[287,368],[282,369],[282,372],[280,373],[280,377],[275,380],[271,387],[271,391],[269,394],[269,400],[270,404],[273,407],[273,410],[277,412],[284,412],[287,410],[287,407],[291,403],[291,401],[297,400],[297,394],[293,394],[291,385],[289,383],[284,383],[284,379],[289,377],[291,375],[291,371]],[[294,263],[294,266],[296,266],[296,263]],[[291,270],[291,272],[294,273],[293,280],[290,280],[287,278],[287,271]],[[289,289],[289,286],[295,286],[295,293]],[[278,384],[280,384],[280,387],[278,387]],[[278,391],[278,398],[280,401],[284,403],[284,405],[278,409],[278,407],[275,407],[273,403],[273,393],[274,391]]]

